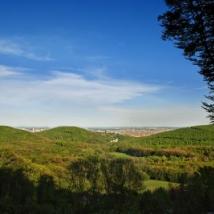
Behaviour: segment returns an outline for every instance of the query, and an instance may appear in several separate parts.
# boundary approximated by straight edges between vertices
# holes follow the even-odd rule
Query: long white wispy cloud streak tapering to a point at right
[[[28,103],[53,101],[85,105],[115,104],[160,90],[159,86],[115,79],[86,79],[75,73],[54,71],[48,79],[4,80],[0,84],[0,102],[18,100]]]

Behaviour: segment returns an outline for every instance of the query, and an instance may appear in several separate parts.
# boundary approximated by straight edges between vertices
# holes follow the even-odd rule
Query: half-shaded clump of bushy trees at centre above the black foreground
[[[70,166],[71,188],[76,192],[120,194],[141,191],[148,175],[140,162],[127,158],[91,156],[73,161]]]

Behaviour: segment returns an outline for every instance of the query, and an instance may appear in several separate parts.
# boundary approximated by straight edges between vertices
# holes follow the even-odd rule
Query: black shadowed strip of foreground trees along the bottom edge
[[[207,213],[214,211],[214,169],[201,168],[187,185],[137,193],[114,183],[111,192],[72,192],[41,176],[34,185],[22,170],[0,169],[1,214]],[[111,181],[110,181],[111,182]],[[113,185],[112,183],[109,186]]]

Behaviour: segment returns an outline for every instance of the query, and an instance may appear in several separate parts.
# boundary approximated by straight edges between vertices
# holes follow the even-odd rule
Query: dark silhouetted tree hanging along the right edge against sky
[[[200,68],[210,94],[203,107],[214,123],[214,0],[165,0],[169,8],[159,16],[164,40],[176,47]]]

